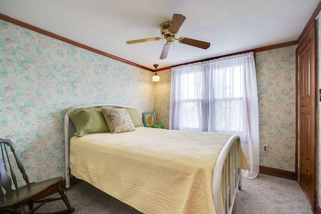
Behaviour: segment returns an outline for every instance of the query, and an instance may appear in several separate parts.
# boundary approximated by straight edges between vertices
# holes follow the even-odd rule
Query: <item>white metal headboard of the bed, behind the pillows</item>
[[[76,106],[73,108],[97,108],[97,107],[108,107],[108,108],[131,108],[129,106],[118,105],[118,104],[108,104],[108,103],[100,103],[100,104],[91,104],[91,105],[83,105]],[[70,109],[73,109],[70,108]],[[69,109],[68,109],[69,110]],[[64,129],[65,129],[65,173],[66,173],[66,188],[70,187],[70,164],[69,164],[69,116],[68,111],[65,114],[64,120]]]

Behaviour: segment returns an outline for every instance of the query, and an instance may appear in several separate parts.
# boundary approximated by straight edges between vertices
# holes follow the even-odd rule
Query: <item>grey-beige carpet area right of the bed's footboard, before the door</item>
[[[259,174],[242,179],[232,214],[312,214],[311,206],[297,181]]]

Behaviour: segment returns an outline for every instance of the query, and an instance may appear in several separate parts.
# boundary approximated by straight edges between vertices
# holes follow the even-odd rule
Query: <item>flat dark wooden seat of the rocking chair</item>
[[[24,201],[28,201],[29,199],[34,198],[47,189],[55,186],[62,179],[62,177],[50,178],[40,182],[30,183],[30,185],[26,185],[18,190],[9,192],[5,197],[0,198],[0,208],[15,206]]]

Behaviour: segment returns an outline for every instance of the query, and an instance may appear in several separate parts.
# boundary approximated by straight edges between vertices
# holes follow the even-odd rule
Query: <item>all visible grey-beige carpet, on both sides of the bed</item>
[[[312,213],[296,181],[259,174],[255,179],[243,178],[242,184],[242,190],[237,192],[233,214]],[[75,208],[74,213],[140,213],[86,182],[72,186],[66,195]],[[62,205],[53,202],[51,206],[41,208],[41,211],[65,208]]]

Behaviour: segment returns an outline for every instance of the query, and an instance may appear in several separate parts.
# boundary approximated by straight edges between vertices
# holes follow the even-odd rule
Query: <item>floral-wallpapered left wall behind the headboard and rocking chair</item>
[[[153,73],[0,20],[0,138],[31,181],[64,176],[64,115],[84,104],[153,110]]]

